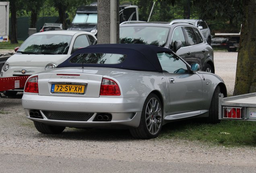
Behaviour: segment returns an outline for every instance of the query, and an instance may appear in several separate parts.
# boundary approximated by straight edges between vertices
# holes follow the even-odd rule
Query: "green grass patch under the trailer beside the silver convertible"
[[[186,139],[226,147],[256,147],[256,122],[221,120],[219,124],[180,121],[163,126],[160,139]]]

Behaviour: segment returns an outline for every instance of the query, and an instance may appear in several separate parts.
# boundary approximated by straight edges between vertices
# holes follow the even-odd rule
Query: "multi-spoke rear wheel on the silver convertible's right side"
[[[140,125],[130,129],[134,138],[151,139],[159,135],[163,124],[163,107],[157,95],[151,93],[142,108]]]

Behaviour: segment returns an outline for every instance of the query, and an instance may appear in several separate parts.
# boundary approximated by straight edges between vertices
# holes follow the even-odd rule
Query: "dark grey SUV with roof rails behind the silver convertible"
[[[200,30],[187,22],[138,22],[120,24],[120,43],[153,44],[169,48],[200,70],[215,72],[213,48]]]

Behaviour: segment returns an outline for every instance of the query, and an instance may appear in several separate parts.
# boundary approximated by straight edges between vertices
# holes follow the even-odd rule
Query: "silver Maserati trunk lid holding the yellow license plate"
[[[98,70],[53,70],[38,74],[39,95],[99,97],[103,75]]]

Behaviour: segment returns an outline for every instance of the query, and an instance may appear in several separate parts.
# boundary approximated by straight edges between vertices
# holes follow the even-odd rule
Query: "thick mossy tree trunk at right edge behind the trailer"
[[[240,35],[233,95],[256,92],[256,1],[243,0],[244,20]]]

